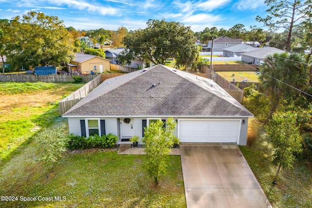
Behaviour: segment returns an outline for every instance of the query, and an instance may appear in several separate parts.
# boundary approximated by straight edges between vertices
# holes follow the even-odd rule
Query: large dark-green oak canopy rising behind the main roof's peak
[[[189,59],[188,51],[194,51],[195,36],[190,27],[175,21],[148,20],[145,29],[128,33],[123,43],[127,50],[124,57],[119,58],[124,63],[139,58],[154,64],[164,64],[169,57]],[[194,55],[192,55],[194,56]]]

